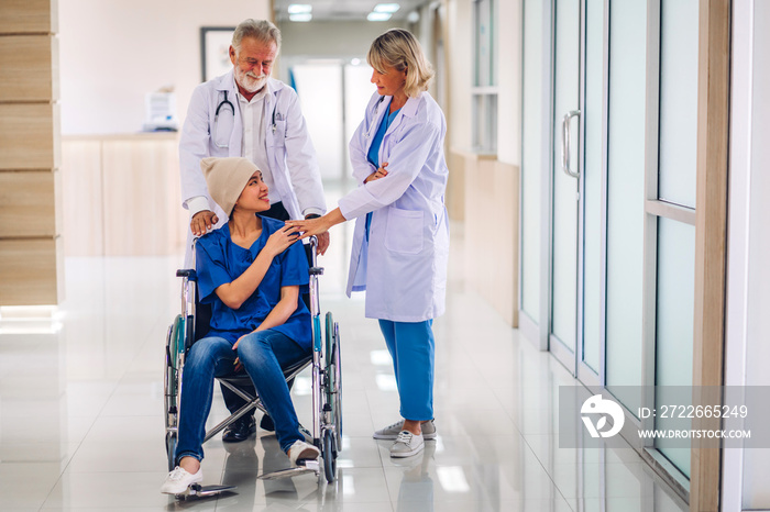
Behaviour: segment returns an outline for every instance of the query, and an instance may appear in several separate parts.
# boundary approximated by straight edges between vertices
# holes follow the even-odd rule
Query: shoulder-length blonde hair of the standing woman
[[[374,40],[366,62],[381,74],[386,66],[398,71],[406,69],[404,92],[409,98],[427,90],[435,75],[433,66],[425,57],[420,43],[409,31],[403,29],[391,29]]]

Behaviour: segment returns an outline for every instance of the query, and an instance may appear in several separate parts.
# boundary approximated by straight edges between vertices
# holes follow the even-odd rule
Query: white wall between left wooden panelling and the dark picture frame
[[[200,27],[271,15],[270,0],[59,0],[62,133],[140,131],[144,94],[200,82]]]

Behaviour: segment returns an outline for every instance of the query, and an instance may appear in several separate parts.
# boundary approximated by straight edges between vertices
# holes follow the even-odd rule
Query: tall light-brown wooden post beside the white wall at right
[[[724,385],[729,155],[730,2],[705,0],[698,8],[697,198],[695,209],[695,304],[693,404],[718,405],[703,387]],[[719,418],[695,418],[692,428],[718,431]],[[717,511],[722,448],[718,438],[692,441],[690,510]]]

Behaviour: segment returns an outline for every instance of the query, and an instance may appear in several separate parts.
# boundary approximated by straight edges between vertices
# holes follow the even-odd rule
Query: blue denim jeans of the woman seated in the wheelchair
[[[207,336],[193,344],[187,354],[182,376],[177,463],[187,456],[204,459],[202,444],[206,420],[211,411],[213,379],[232,375],[235,357],[240,358],[273,418],[280,448],[286,452],[295,441],[305,439],[299,433],[299,421],[282,368],[307,357],[311,349],[272,330],[246,335],[238,345],[238,353],[232,346],[223,337]]]

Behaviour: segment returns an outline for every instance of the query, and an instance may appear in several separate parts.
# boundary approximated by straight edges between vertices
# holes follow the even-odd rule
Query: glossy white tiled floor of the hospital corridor
[[[398,400],[376,322],[363,318],[361,298],[342,294],[350,229],[338,229],[321,287],[343,343],[339,481],[256,480],[286,464],[275,437],[260,431],[244,443],[205,445],[205,483],[235,485],[237,493],[186,502],[158,492],[163,349],[179,308],[179,258],[68,258],[67,301],[53,316],[2,310],[0,510],[686,510],[630,448],[559,448],[556,405],[541,399],[574,381],[465,289],[457,227],[448,312],[435,323],[440,435],[425,454],[395,461],[388,443],[371,438],[395,421]],[[295,401],[307,424],[304,379]],[[217,394],[211,421],[223,416]]]

